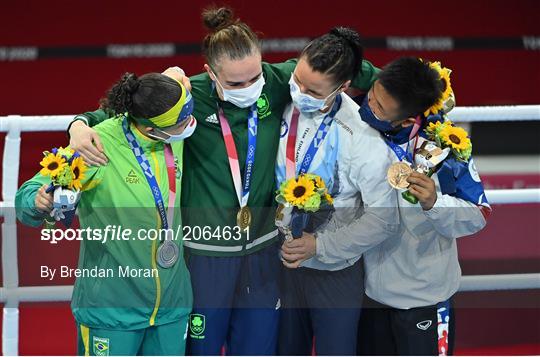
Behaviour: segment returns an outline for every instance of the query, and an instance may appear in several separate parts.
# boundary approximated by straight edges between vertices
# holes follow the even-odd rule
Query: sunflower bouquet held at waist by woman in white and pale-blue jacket
[[[279,203],[276,225],[287,239],[314,231],[328,220],[334,200],[324,180],[314,174],[301,174],[281,183],[276,192]]]

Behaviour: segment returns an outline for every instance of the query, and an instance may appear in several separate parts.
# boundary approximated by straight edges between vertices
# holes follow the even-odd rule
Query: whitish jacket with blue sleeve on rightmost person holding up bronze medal
[[[418,145],[424,138],[419,138]],[[401,145],[403,149],[407,144]],[[395,162],[397,156],[391,152]],[[475,202],[443,194],[439,173],[432,179],[437,201],[428,211],[399,194],[399,234],[364,254],[366,294],[399,309],[435,305],[459,289],[461,268],[456,238],[477,233],[486,225],[491,208],[485,198],[474,161],[461,164],[457,195],[464,192]],[[466,191],[466,192],[465,192]]]

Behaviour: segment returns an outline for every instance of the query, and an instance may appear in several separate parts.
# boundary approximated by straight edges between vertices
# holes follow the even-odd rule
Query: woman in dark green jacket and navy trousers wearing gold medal
[[[182,181],[183,222],[192,229],[184,242],[194,294],[188,351],[219,355],[226,345],[227,354],[272,355],[281,269],[274,166],[296,60],[262,62],[257,36],[230,9],[205,11],[203,20],[206,72],[191,77],[199,127],[185,143]],[[351,86],[367,90],[377,70],[366,61],[361,67]],[[71,127],[71,143],[91,161],[99,162],[92,154],[99,155],[99,144],[91,144],[96,136],[84,124],[107,118],[104,111],[84,113]],[[241,225],[249,235],[236,234]],[[209,239],[199,234],[204,229]]]

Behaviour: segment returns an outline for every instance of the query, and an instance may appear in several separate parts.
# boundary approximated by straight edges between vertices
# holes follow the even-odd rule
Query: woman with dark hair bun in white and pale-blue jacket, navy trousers
[[[316,247],[308,241],[308,247],[300,238],[283,244],[280,355],[311,354],[313,338],[317,355],[356,353],[364,293],[359,252],[397,229],[397,196],[384,179],[392,158],[380,134],[360,119],[359,106],[343,93],[361,63],[358,34],[335,28],[302,51],[289,81],[293,102],[282,122],[278,184],[301,173],[319,175],[334,197],[327,230],[363,215],[358,236],[347,243],[357,248],[353,255],[335,254],[339,241],[321,239]],[[310,254],[297,254],[305,248]],[[321,259],[311,257],[315,250],[323,253]]]

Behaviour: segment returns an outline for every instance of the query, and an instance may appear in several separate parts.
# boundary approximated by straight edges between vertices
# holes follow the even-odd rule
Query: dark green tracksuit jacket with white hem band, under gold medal
[[[276,241],[274,165],[283,110],[291,101],[288,82],[295,66],[296,60],[278,64],[263,62],[262,65],[266,84],[257,101],[257,150],[248,201],[253,219],[249,237],[243,235],[240,239],[224,239],[220,237],[221,232],[210,239],[203,239],[197,232],[204,227],[210,227],[214,232],[217,227],[236,226],[239,204],[217,113],[218,107],[223,108],[231,126],[243,178],[248,146],[249,108],[238,108],[220,100],[208,74],[202,73],[190,78],[195,99],[193,115],[198,121],[197,130],[185,141],[185,172],[182,181],[183,222],[184,226],[193,230],[184,241],[190,253],[210,256],[245,255]],[[376,67],[364,61],[362,73],[357,76],[352,87],[369,89],[377,72]],[[102,110],[81,116],[90,126],[109,117]]]

